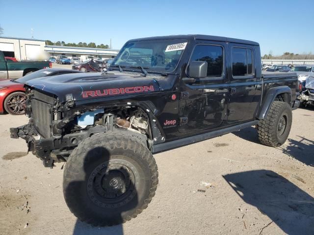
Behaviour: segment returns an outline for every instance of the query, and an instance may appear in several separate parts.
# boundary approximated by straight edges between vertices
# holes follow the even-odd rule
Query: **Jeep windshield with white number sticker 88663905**
[[[148,72],[172,72],[186,44],[185,39],[128,42],[110,67],[143,67]]]

